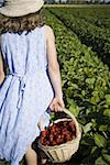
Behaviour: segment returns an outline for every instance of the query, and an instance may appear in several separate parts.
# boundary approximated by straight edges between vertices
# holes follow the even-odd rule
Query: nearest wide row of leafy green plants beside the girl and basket
[[[44,14],[55,33],[66,108],[77,117],[84,131],[74,161],[109,164],[109,68],[47,9]]]

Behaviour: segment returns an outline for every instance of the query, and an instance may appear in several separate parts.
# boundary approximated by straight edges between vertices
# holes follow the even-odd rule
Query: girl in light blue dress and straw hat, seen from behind
[[[63,91],[53,29],[43,0],[7,0],[0,8],[0,160],[37,165],[32,142],[63,111]],[[6,75],[6,68],[9,73]]]

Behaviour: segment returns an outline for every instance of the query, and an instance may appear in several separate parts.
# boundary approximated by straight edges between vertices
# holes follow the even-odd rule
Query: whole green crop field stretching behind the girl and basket
[[[44,15],[55,33],[66,108],[82,129],[79,150],[66,164],[109,165],[110,7],[45,6]]]

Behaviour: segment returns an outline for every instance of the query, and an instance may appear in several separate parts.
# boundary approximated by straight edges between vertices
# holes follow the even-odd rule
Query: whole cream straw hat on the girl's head
[[[4,0],[0,13],[7,16],[23,16],[38,11],[44,0]]]

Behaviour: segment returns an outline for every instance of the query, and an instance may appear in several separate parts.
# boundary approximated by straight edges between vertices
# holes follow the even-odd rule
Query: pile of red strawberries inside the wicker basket
[[[76,138],[76,128],[72,120],[53,123],[41,132],[40,142],[54,146],[72,141]]]

